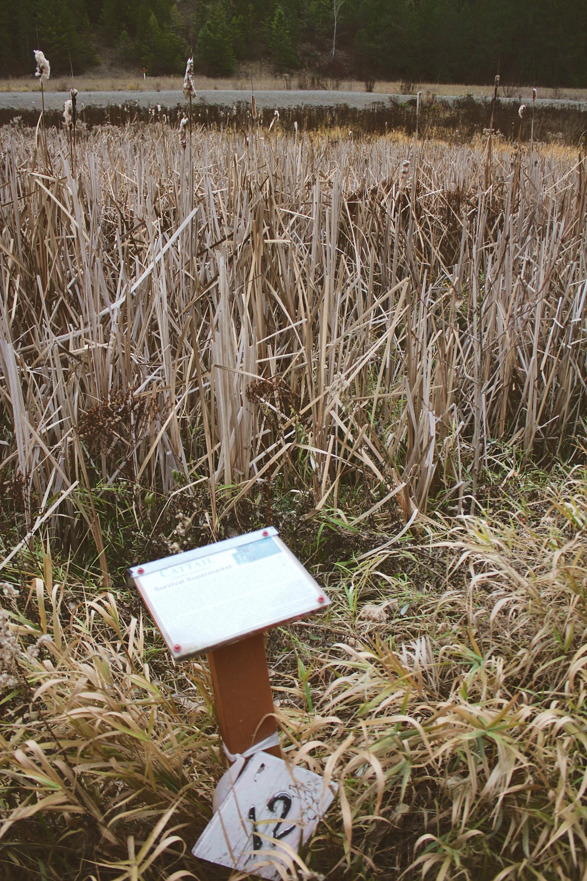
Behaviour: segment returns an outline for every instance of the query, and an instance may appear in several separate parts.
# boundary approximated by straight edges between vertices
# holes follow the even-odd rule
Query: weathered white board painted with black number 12
[[[229,869],[277,879],[291,851],[307,841],[330,807],[337,786],[257,752],[196,841],[192,853]]]

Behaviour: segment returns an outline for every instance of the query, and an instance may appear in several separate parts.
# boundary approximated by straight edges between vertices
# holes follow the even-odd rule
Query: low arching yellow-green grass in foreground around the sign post
[[[584,474],[538,503],[371,547],[331,574],[327,619],[272,638],[288,758],[341,784],[312,870],[583,877]],[[189,855],[221,773],[206,670],[170,669],[123,596],[44,574],[4,599],[5,877],[216,877]]]

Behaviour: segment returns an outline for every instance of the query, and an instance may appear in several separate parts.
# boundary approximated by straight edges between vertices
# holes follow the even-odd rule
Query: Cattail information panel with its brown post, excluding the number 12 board
[[[176,661],[208,655],[226,750],[242,753],[275,734],[263,633],[329,603],[277,530],[133,566],[128,576]],[[268,752],[281,757],[279,746]]]

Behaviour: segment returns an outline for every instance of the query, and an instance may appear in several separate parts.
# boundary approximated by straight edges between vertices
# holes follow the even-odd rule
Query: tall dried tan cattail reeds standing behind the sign
[[[160,127],[86,136],[76,180],[63,135],[47,173],[4,131],[3,470],[33,510],[205,477],[215,532],[218,481],[281,470],[317,508],[366,481],[459,513],[496,444],[576,436],[583,159],[495,151],[483,189],[482,145],[426,143],[404,185],[403,142],[273,136],[198,131],[190,192]]]

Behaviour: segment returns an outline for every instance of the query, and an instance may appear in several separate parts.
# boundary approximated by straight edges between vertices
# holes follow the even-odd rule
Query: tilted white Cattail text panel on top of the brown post
[[[330,602],[275,527],[133,566],[128,575],[178,661]]]

